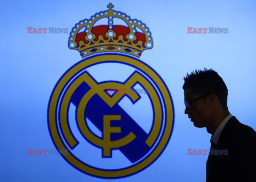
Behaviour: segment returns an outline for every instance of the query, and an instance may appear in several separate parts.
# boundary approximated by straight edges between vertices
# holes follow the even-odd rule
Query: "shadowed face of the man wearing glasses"
[[[184,100],[189,102],[193,99],[200,97],[198,94],[195,94],[191,89],[184,90]],[[194,123],[195,127],[202,128],[210,125],[210,116],[211,109],[208,99],[204,98],[196,100],[193,103],[190,103],[190,108],[185,109],[185,114],[191,118],[191,122]]]

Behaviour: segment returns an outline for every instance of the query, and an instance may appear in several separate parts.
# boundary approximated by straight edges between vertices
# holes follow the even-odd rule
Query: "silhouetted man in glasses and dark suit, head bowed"
[[[185,114],[194,126],[212,134],[206,181],[256,181],[256,132],[228,111],[222,78],[204,69],[187,74],[184,81]],[[242,103],[236,106],[246,108]]]

